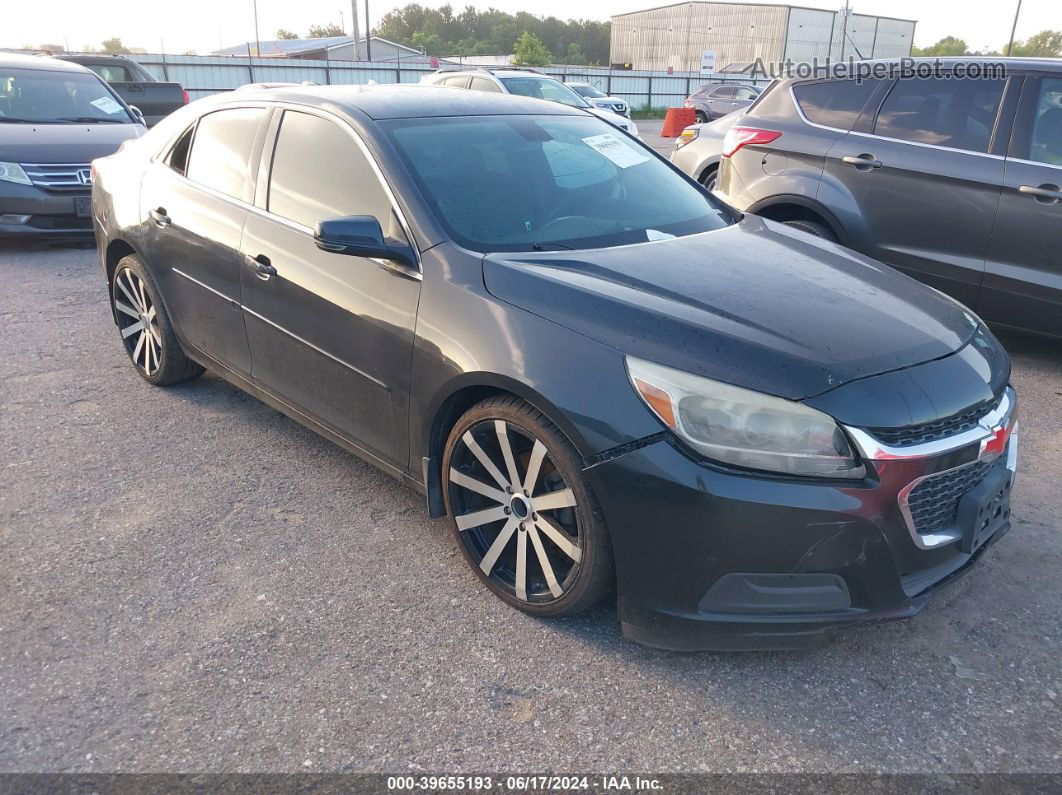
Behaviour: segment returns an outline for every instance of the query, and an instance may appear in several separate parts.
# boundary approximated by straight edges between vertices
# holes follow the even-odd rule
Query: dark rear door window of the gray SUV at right
[[[988,152],[1005,80],[900,80],[878,111],[876,135]]]

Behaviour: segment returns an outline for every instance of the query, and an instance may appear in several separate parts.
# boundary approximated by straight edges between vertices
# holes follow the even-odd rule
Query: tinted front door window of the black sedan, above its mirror
[[[313,228],[343,215],[373,215],[400,238],[391,201],[354,139],[338,124],[287,110],[273,153],[269,211]]]

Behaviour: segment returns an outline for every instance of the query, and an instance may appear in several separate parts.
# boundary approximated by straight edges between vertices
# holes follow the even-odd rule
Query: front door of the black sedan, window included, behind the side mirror
[[[324,252],[321,221],[374,215],[406,236],[367,153],[338,119],[286,110],[269,192],[241,245],[252,376],[358,446],[408,463],[410,358],[419,273]]]

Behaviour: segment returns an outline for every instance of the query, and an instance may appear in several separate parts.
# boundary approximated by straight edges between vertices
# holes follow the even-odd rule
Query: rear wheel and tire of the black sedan
[[[118,318],[122,347],[140,377],[155,386],[199,378],[203,367],[182,350],[158,296],[158,286],[139,257],[131,254],[118,262],[110,283],[110,308]]]

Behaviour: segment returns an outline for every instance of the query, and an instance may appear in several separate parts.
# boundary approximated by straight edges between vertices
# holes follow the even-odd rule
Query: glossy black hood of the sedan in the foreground
[[[753,215],[652,243],[492,254],[483,278],[626,353],[792,400],[945,357],[978,326],[887,265]]]

